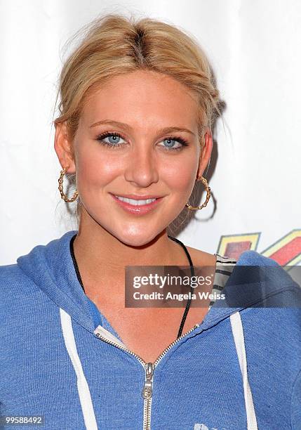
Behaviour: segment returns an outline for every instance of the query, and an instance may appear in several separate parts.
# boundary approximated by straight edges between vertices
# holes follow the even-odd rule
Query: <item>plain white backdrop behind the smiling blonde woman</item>
[[[53,148],[60,52],[79,27],[111,11],[193,34],[227,105],[208,170],[213,197],[180,240],[228,254],[225,244],[244,242],[300,264],[300,0],[0,1],[0,264],[76,228]]]

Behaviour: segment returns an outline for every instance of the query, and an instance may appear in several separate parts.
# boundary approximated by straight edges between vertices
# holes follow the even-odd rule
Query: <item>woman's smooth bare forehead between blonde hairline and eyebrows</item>
[[[172,77],[138,70],[109,79],[91,92],[83,122],[116,119],[137,124],[196,126],[198,105],[188,87]],[[177,124],[173,124],[177,122]]]

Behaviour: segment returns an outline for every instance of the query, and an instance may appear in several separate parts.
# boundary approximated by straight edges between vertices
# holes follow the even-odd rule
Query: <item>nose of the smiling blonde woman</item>
[[[126,160],[125,178],[137,187],[147,187],[158,182],[159,174],[153,148],[143,144],[135,145]]]

